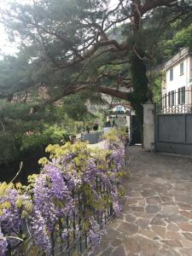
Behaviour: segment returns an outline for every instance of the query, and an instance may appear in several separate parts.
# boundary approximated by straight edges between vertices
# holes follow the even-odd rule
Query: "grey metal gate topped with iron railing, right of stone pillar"
[[[156,105],[155,148],[173,154],[192,154],[192,90],[170,92]]]

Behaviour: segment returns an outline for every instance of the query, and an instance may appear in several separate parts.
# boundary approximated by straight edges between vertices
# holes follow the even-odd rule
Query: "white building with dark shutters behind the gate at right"
[[[181,49],[172,59],[166,61],[166,82],[163,84],[163,108],[175,112],[192,106],[192,55],[189,49]],[[182,110],[182,111],[181,111]],[[185,110],[184,110],[185,111]],[[188,111],[187,111],[188,112]]]

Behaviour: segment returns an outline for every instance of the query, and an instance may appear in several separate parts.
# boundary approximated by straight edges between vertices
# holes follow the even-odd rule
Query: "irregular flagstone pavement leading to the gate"
[[[128,150],[123,212],[92,256],[192,255],[192,158]]]

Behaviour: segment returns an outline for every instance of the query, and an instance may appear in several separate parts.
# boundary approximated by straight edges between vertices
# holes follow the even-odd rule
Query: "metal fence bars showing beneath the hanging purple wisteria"
[[[118,182],[115,185],[119,186]],[[99,177],[96,177],[96,192],[97,195],[102,195],[108,198],[108,204],[103,210],[96,210],[95,207],[91,206],[89,202],[82,197],[81,193],[73,192],[73,202],[75,208],[73,213],[70,215],[63,215],[59,222],[55,225],[55,229],[61,230],[61,232],[51,233],[51,248],[49,251],[44,251],[44,253],[39,253],[42,256],[83,256],[88,255],[92,249],[92,243],[88,237],[88,231],[84,228],[84,224],[88,218],[89,212],[91,212],[91,217],[98,224],[99,230],[104,230],[109,222],[113,219],[113,203],[110,201],[109,196],[110,191],[107,186],[102,182]],[[78,210],[78,211],[77,211]],[[27,225],[24,224],[23,230],[27,230]],[[65,230],[65,235],[63,237],[63,230]],[[27,240],[30,243],[31,238]],[[61,242],[58,242],[61,241]],[[6,253],[9,255],[20,255],[24,256],[26,254],[22,251],[22,242],[18,242],[14,248],[9,248]],[[30,254],[32,255],[32,254]],[[37,255],[37,254],[35,254]]]

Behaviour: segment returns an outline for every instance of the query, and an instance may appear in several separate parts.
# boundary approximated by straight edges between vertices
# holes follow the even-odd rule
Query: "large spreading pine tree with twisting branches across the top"
[[[191,42],[187,1],[33,0],[0,13],[20,44],[0,62],[0,97],[25,103],[30,118],[65,96],[104,93],[131,102],[142,131],[153,68]],[[73,99],[83,110],[75,96],[69,110]]]

